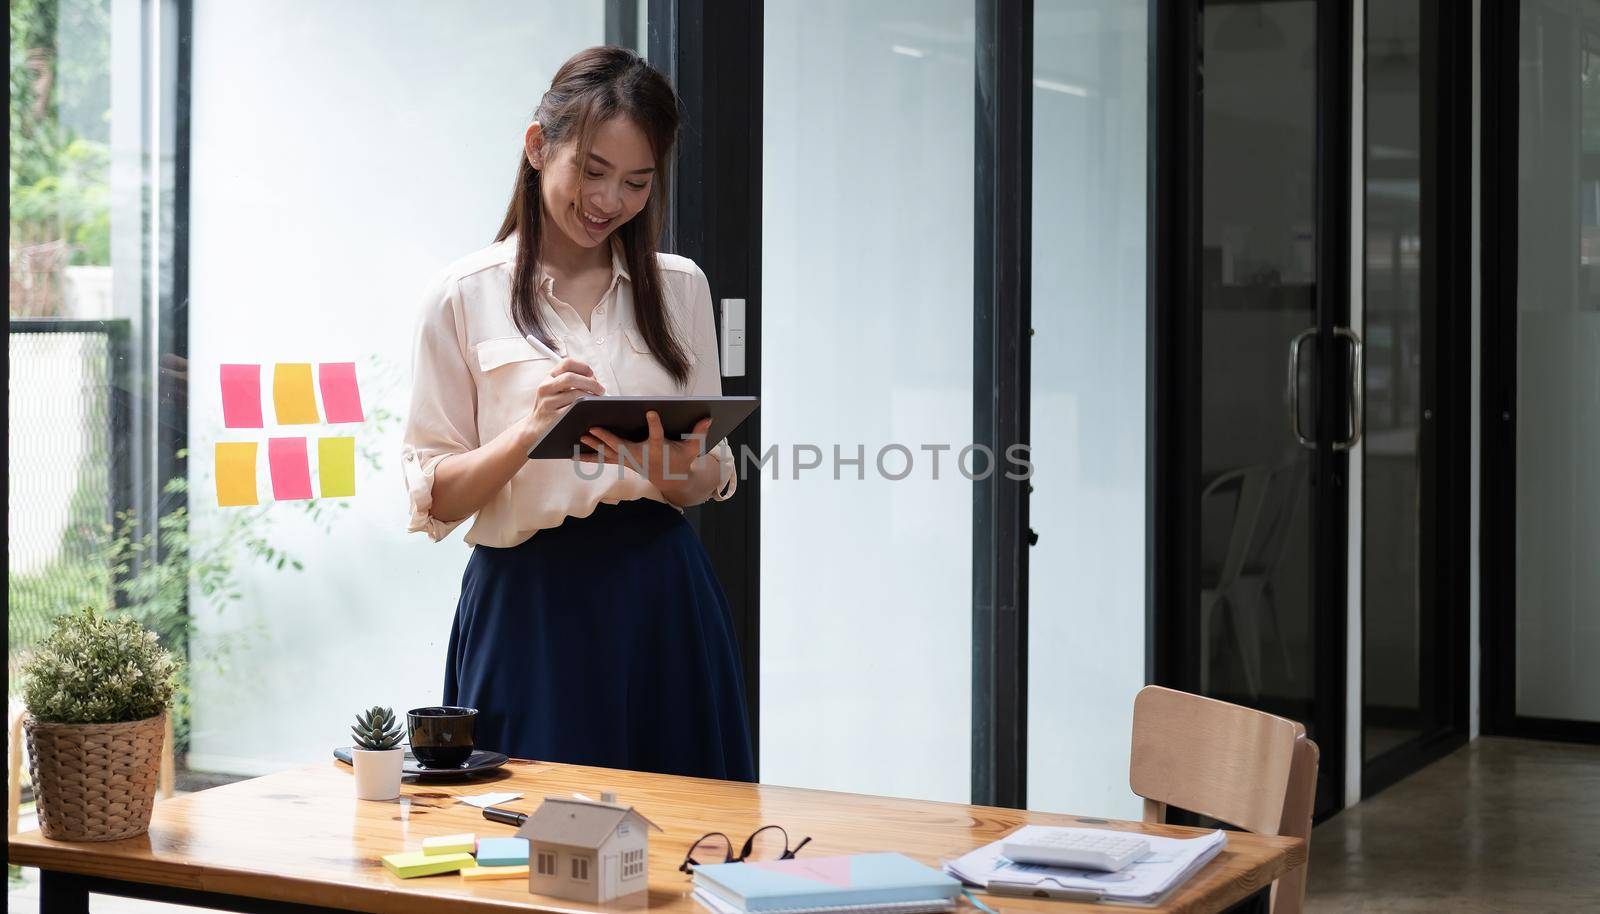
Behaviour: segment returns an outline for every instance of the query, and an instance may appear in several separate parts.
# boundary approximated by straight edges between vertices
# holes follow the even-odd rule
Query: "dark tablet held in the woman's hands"
[[[579,439],[589,429],[600,426],[616,437],[642,442],[650,437],[645,413],[654,410],[661,416],[661,431],[667,440],[678,440],[694,431],[694,423],[710,416],[706,447],[710,450],[726,439],[755,411],[760,397],[579,397],[562,413],[562,418],[534,442],[528,459],[573,459],[576,453],[592,455],[594,448]]]

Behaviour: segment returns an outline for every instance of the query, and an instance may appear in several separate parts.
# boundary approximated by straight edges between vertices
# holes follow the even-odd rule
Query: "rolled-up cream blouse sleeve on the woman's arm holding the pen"
[[[400,466],[411,520],[406,530],[440,541],[462,520],[434,517],[434,472],[451,455],[478,447],[478,389],[467,367],[461,296],[450,274],[429,283],[411,359],[411,411]]]

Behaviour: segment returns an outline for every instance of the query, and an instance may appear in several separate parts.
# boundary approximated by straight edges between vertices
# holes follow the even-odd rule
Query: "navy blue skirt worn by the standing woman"
[[[475,546],[445,704],[477,708],[478,748],[514,759],[755,780],[728,597],[659,501]]]

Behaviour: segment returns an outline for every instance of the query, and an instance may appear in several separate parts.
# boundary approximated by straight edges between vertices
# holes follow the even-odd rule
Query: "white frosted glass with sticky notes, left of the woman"
[[[230,645],[222,666],[195,667],[190,767],[323,762],[354,709],[438,701],[469,549],[461,533],[405,531],[397,455],[418,307],[438,269],[494,240],[528,117],[568,56],[603,43],[603,19],[600,0],[195,3],[197,552],[238,511],[216,507],[213,442],[264,451],[269,435],[354,434],[358,461],[347,507],[280,503],[253,523],[304,571],[250,562],[226,611],[190,600],[195,653]],[[274,362],[355,362],[370,419],[283,431],[269,400],[261,434],[224,429],[230,362],[266,363],[269,391]]]

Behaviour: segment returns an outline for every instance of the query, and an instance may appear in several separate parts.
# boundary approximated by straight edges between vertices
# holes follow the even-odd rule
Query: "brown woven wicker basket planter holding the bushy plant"
[[[27,717],[38,828],[54,840],[117,840],[150,828],[166,716],[126,724]]]

